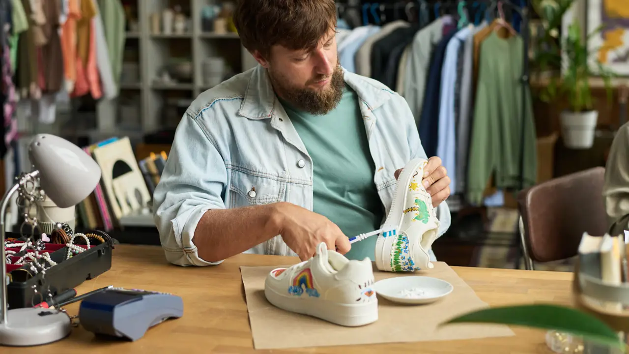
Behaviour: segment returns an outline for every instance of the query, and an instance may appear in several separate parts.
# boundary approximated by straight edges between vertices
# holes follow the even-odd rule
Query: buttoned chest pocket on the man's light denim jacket
[[[231,170],[230,208],[281,202],[286,182],[261,172]]]

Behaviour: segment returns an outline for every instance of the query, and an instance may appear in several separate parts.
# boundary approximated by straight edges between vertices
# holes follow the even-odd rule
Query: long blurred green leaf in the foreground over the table
[[[494,323],[513,324],[541,329],[555,329],[589,340],[608,343],[624,349],[618,333],[598,318],[585,312],[557,305],[516,305],[472,311],[440,324]]]

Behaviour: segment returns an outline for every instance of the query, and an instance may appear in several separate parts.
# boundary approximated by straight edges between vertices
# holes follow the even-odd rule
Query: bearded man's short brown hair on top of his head
[[[337,26],[334,0],[239,0],[233,16],[243,46],[265,59],[273,45],[314,50]]]

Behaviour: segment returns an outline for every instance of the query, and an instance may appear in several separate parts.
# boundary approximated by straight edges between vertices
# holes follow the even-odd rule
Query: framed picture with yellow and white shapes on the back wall
[[[629,4],[626,0],[587,0],[587,33],[599,26],[587,47],[590,60],[598,59],[619,76],[629,76]],[[593,66],[594,68],[595,66]]]

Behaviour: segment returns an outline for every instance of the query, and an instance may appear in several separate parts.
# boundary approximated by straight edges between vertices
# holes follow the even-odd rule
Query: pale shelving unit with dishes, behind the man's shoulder
[[[113,132],[118,128],[150,134],[157,130],[174,128],[183,111],[196,96],[211,88],[203,80],[203,62],[207,57],[223,57],[233,74],[246,71],[256,62],[242,47],[237,33],[208,33],[202,31],[201,13],[204,6],[221,4],[211,0],[135,0],[138,14],[138,31],[126,33],[126,48],[137,50],[138,78],[121,77],[118,98],[103,100],[97,105],[96,132]],[[153,33],[152,14],[180,6],[188,18],[185,33]],[[161,27],[161,26],[160,26]],[[126,57],[126,55],[125,55]],[[129,55],[133,58],[133,55]],[[174,59],[191,62],[190,82],[163,83],[156,81],[165,67]],[[126,59],[125,59],[126,60]],[[127,60],[126,60],[127,61]],[[133,59],[128,60],[133,63]],[[121,122],[123,101],[135,103],[140,119]],[[172,103],[174,106],[169,106]],[[178,107],[177,107],[178,106]],[[179,108],[179,109],[177,109]],[[129,109],[129,108],[127,108]],[[127,113],[128,116],[128,113]]]

